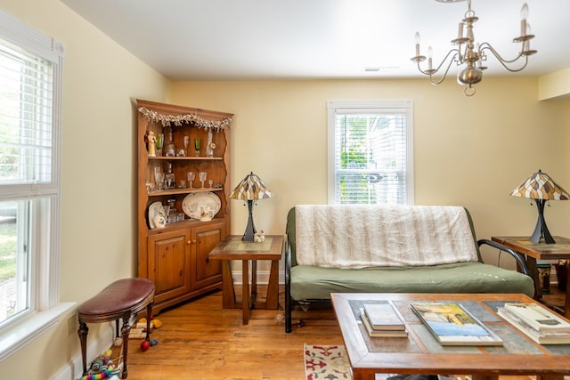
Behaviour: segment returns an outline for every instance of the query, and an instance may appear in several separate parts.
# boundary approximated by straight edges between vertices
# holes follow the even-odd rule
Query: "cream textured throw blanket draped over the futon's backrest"
[[[460,206],[295,207],[297,263],[336,268],[477,261]]]

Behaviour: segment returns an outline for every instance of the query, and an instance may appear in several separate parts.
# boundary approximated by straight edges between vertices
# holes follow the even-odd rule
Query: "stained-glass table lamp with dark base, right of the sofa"
[[[550,235],[550,231],[544,220],[544,204],[549,200],[566,200],[570,198],[566,190],[558,186],[548,174],[542,173],[542,170],[539,169],[538,172],[518,185],[515,190],[512,190],[510,195],[520,198],[532,198],[536,202],[538,220],[536,221],[536,226],[534,227],[533,235],[531,235],[530,240],[533,243],[540,243],[542,241],[546,244],[556,243]]]

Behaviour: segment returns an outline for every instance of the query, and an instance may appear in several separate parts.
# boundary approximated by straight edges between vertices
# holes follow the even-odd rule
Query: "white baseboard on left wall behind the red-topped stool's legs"
[[[90,328],[89,330],[91,333],[95,329]],[[112,344],[115,338],[115,322],[102,324],[99,332],[99,336],[93,336],[93,334],[87,335],[87,354],[85,355],[87,367],[89,367],[89,364],[101,355],[102,352],[110,348],[110,344]],[[77,336],[71,336],[71,338],[78,340]],[[52,380],[77,380],[82,376],[83,361],[81,359],[81,349],[79,349],[77,355],[75,355],[67,365],[61,368],[61,370],[53,376]]]

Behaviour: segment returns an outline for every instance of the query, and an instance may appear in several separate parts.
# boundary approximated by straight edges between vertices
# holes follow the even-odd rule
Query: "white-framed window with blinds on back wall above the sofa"
[[[329,203],[412,204],[411,101],[329,102]]]

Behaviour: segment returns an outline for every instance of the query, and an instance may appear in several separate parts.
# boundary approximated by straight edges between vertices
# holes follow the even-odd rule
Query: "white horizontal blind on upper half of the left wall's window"
[[[53,63],[0,40],[0,184],[52,182]]]

